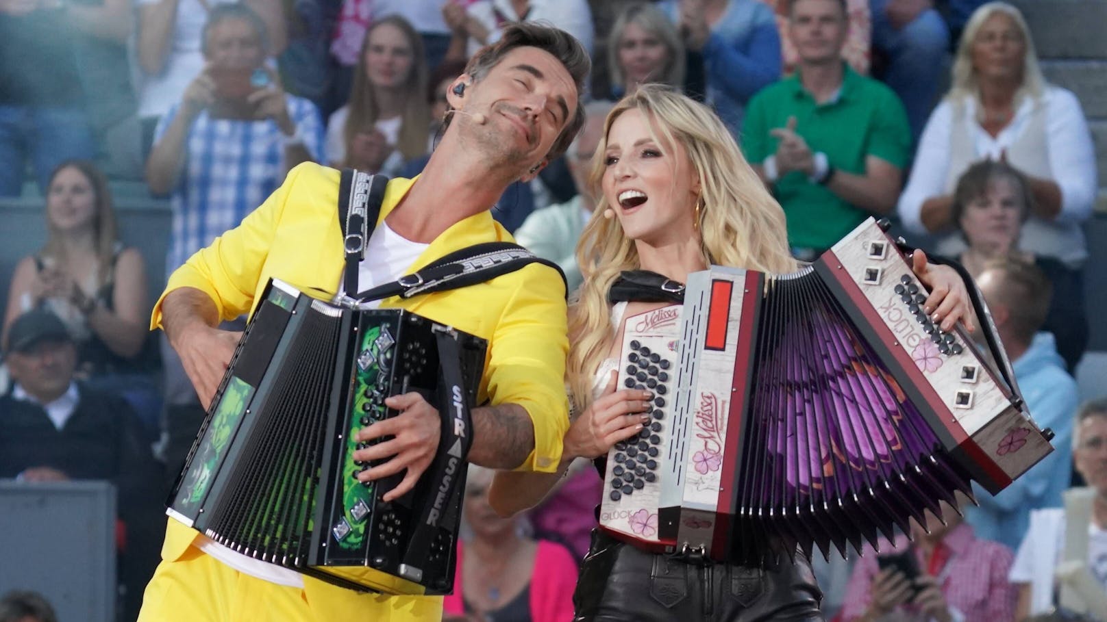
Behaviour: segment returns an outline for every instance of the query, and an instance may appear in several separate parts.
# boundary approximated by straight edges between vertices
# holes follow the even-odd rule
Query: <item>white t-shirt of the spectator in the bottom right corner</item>
[[[1065,510],[1031,512],[1031,526],[1015,553],[1007,578],[1031,584],[1031,615],[1048,613],[1054,601],[1054,569],[1065,551]],[[1107,531],[1088,525],[1088,570],[1107,590]]]

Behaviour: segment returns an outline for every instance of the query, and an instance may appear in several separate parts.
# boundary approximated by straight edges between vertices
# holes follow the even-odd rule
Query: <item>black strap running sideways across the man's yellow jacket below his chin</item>
[[[464,288],[490,281],[530,263],[542,263],[557,270],[561,276],[561,282],[566,283],[566,296],[568,296],[565,272],[557,263],[537,257],[516,243],[485,242],[451,252],[421,270],[400,277],[391,283],[360,292],[353,298],[369,302],[392,296],[411,298],[421,293]]]

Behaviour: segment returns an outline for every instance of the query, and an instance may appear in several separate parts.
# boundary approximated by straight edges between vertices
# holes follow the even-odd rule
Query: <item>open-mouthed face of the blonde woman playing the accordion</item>
[[[662,246],[695,237],[700,178],[680,144],[653,138],[644,113],[631,108],[608,132],[603,196],[627,237]]]

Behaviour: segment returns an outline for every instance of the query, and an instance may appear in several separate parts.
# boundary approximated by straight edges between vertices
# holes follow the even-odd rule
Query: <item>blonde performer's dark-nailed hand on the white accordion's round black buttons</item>
[[[653,394],[638,388],[615,391],[619,374],[611,372],[611,381],[603,394],[584,410],[569,426],[565,435],[565,450],[571,457],[596,458],[611,447],[638,434],[650,421],[649,400]]]

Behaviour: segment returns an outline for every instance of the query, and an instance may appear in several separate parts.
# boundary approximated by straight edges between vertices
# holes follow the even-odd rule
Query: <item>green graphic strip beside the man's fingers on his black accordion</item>
[[[384,418],[384,398],[389,396],[387,369],[393,359],[395,338],[389,332],[387,324],[363,326],[361,343],[356,350],[356,373],[354,374],[354,392],[350,416],[350,428],[346,431],[346,449],[342,473],[355,475],[361,470],[353,453],[358,450],[358,431],[373,422]],[[373,505],[373,484],[362,484],[355,477],[343,478],[342,485],[342,519],[331,527],[331,533],[339,547],[346,550],[359,550],[365,542],[370,508]]]

